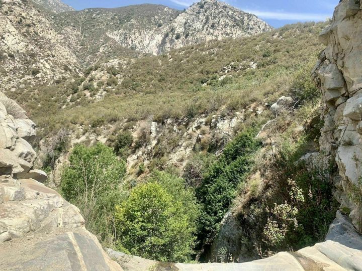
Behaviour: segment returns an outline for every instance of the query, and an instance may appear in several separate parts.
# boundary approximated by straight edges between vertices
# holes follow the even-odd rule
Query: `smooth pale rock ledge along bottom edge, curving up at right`
[[[362,237],[358,235],[348,218],[337,213],[330,226],[326,241],[296,252],[280,252],[272,257],[244,263],[161,263],[108,249],[125,270],[361,270]],[[164,268],[164,269],[162,269]]]

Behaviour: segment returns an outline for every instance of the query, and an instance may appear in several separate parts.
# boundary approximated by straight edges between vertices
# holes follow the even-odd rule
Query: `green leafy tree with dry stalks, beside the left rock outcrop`
[[[122,182],[126,165],[113,149],[101,143],[94,147],[77,145],[63,170],[61,193],[76,205],[86,226],[105,239],[115,205],[124,199]]]

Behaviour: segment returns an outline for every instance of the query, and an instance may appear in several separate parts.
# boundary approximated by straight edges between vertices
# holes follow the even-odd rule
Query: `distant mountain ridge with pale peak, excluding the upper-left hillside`
[[[84,47],[80,52],[96,53],[115,41],[125,48],[157,55],[186,45],[248,37],[272,29],[256,16],[216,0],[202,0],[184,12],[146,4],[63,13],[54,20],[64,35],[69,27],[75,29],[81,37],[78,46]]]

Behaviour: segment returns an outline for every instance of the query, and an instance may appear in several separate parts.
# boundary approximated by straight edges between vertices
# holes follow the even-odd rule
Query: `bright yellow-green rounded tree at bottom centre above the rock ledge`
[[[196,198],[183,179],[155,172],[116,207],[117,246],[154,260],[189,261],[198,214]]]

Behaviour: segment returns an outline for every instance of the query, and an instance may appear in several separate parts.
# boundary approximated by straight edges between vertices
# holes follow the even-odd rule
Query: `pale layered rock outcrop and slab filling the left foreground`
[[[25,140],[35,124],[13,100],[0,98],[1,269],[122,270],[84,228],[78,208],[40,183],[47,176],[33,169],[36,153]]]

